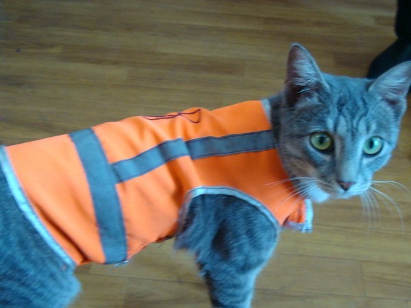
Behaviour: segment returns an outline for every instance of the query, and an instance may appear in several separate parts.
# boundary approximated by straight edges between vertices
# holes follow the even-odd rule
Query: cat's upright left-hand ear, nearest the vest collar
[[[296,101],[301,95],[314,94],[327,88],[323,74],[314,58],[300,44],[293,44],[288,53],[286,95]]]

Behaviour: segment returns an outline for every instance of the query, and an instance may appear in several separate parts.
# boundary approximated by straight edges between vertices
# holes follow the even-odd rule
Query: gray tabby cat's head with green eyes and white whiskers
[[[279,114],[279,153],[295,188],[313,201],[349,198],[370,188],[397,144],[411,62],[375,80],[321,73],[293,45]]]

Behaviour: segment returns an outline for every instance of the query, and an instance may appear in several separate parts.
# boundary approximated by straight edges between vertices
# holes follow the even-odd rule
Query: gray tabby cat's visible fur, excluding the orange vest
[[[301,198],[366,194],[395,149],[410,84],[411,62],[375,81],[336,77],[321,73],[306,49],[292,47],[284,89],[266,100],[266,110]],[[0,184],[0,307],[66,307],[79,292],[74,269],[20,213],[3,173]],[[189,209],[175,246],[195,255],[213,307],[251,307],[254,282],[281,230],[235,196],[204,194]]]

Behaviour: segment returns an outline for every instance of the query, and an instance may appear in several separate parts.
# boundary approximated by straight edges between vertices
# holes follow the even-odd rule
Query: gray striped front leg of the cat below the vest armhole
[[[213,307],[251,307],[256,277],[275,247],[275,224],[256,206],[224,195],[194,198],[183,223],[176,246],[197,257]]]

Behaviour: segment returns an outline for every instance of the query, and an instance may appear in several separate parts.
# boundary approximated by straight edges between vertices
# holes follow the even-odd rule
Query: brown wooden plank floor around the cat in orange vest
[[[0,142],[14,144],[138,114],[221,107],[282,87],[291,42],[321,68],[362,77],[395,39],[393,0],[1,0]],[[378,179],[411,188],[411,112]],[[411,307],[411,193],[316,207],[312,235],[286,231],[254,307]],[[127,265],[77,270],[73,307],[210,307],[172,241]]]

